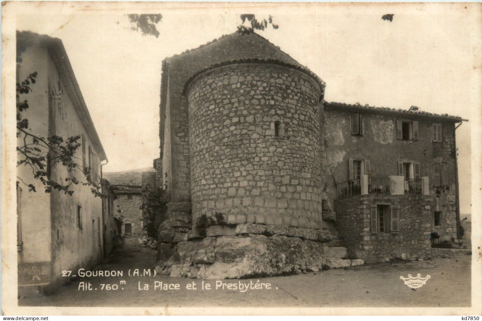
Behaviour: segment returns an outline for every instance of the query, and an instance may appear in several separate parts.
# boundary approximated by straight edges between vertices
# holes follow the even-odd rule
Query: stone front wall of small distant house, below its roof
[[[132,199],[128,198],[132,195]],[[142,197],[140,194],[117,194],[114,201],[114,216],[122,221],[122,236],[125,236],[125,224],[132,224],[132,236],[139,237],[142,235]]]

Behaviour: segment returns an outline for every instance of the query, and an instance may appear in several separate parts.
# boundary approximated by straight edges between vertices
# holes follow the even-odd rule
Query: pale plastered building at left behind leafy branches
[[[58,135],[64,138],[80,135],[76,152],[82,169],[74,169],[82,182],[99,182],[101,162],[107,160],[94,123],[80,92],[79,84],[60,39],[31,32],[17,32],[17,81],[37,72],[33,91],[20,94],[28,99],[29,108],[22,117],[29,120],[29,130],[39,137]],[[18,137],[19,146],[24,136]],[[29,137],[27,143],[31,143]],[[39,146],[47,154],[46,148]],[[22,156],[18,157],[21,161]],[[58,162],[49,164],[49,179],[65,182],[67,169]],[[58,190],[44,192],[44,186],[33,178],[32,169],[17,167],[17,176],[33,184],[36,192],[20,183],[17,187],[17,250],[19,291],[40,288],[54,291],[68,281],[62,271],[88,269],[100,262],[111,250],[112,212],[104,210],[103,201],[94,197],[91,187],[73,185],[72,196]]]

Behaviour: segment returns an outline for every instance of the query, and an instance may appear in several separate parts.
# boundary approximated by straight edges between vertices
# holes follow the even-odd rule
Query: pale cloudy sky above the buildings
[[[461,213],[470,213],[471,115],[481,97],[468,12],[463,3],[41,2],[25,4],[17,29],[63,41],[107,154],[104,171],[115,172],[159,157],[161,61],[234,32],[241,13],[270,14],[279,29],[258,33],[319,75],[327,101],[469,119],[456,135]],[[161,13],[159,38],[131,30],[126,13]]]

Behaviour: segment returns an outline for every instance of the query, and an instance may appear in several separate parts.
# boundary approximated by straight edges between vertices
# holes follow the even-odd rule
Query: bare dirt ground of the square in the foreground
[[[259,279],[271,289],[215,289],[216,280],[206,280],[211,290],[202,290],[202,280],[171,278],[166,275],[128,276],[134,269],[142,275],[153,266],[156,251],[146,249],[131,238],[116,249],[97,270],[122,270],[123,277],[91,277],[62,287],[57,294],[31,294],[19,299],[20,306],[70,307],[463,307],[470,306],[470,256],[437,258],[408,263],[382,263],[311,272],[308,274]],[[153,272],[151,270],[151,272]],[[409,288],[400,279],[408,274],[427,283]],[[125,280],[125,285],[120,281]],[[154,282],[179,284],[179,290],[154,290]],[[249,283],[258,280],[223,280],[225,283]],[[79,290],[80,282],[90,282],[92,290]],[[139,290],[149,284],[148,290]],[[196,283],[196,290],[187,285]],[[118,284],[117,290],[101,290],[101,284]],[[160,283],[158,283],[160,285]],[[107,286],[105,286],[106,288]],[[173,285],[174,287],[174,285]],[[123,288],[123,290],[122,290]],[[97,290],[95,290],[97,289]]]

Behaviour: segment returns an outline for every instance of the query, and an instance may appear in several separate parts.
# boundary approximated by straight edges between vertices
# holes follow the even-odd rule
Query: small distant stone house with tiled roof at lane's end
[[[120,235],[140,237],[143,231],[142,221],[142,185],[134,183],[112,183],[115,195],[113,201],[114,216],[121,222]]]

